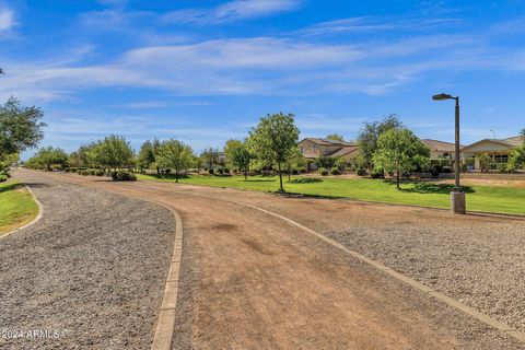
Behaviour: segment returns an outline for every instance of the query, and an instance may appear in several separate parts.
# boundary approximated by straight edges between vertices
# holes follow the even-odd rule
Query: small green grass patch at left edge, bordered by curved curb
[[[31,222],[38,206],[18,182],[0,183],[0,235]]]

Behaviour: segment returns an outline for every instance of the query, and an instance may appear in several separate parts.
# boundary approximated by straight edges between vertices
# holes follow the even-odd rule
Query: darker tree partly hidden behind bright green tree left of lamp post
[[[374,167],[373,155],[377,150],[377,140],[385,131],[404,128],[402,122],[396,114],[390,114],[382,121],[364,122],[358,136],[359,152],[362,155],[365,166],[371,171]]]

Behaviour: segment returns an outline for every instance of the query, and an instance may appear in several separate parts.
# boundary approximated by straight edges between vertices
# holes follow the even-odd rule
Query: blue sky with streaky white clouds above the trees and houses
[[[107,133],[196,151],[268,113],[353,139],[396,113],[421,138],[525,127],[525,1],[0,0],[0,98],[46,113],[68,151]]]

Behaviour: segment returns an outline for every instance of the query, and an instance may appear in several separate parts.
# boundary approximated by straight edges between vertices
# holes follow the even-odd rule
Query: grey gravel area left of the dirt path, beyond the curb
[[[0,348],[149,348],[173,249],[172,213],[38,173],[14,176],[30,184],[44,215],[0,238]]]

